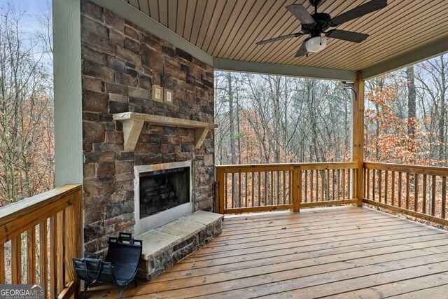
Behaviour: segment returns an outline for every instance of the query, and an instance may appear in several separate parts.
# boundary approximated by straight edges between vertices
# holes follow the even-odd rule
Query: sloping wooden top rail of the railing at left
[[[39,209],[43,209],[48,206],[48,204],[57,202],[57,200],[60,200],[79,190],[81,190],[81,185],[64,185],[48,190],[44,193],[25,198],[18,202],[8,204],[6,207],[0,208],[0,227],[10,221],[14,221],[17,218],[32,214]]]

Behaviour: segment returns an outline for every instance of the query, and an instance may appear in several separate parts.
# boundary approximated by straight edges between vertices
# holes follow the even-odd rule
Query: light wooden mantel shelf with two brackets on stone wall
[[[134,151],[139,139],[141,127],[144,123],[152,125],[166,125],[169,127],[187,127],[196,130],[195,148],[200,148],[209,130],[218,127],[214,123],[203,123],[196,120],[183,118],[170,118],[167,116],[155,116],[146,113],[123,112],[113,114],[113,120],[123,122],[123,137],[125,139],[125,151]]]

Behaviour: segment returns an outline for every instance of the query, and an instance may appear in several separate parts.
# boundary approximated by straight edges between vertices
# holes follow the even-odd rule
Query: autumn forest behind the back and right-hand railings
[[[365,160],[447,166],[448,55],[365,82]],[[216,71],[216,165],[349,161],[350,87]]]

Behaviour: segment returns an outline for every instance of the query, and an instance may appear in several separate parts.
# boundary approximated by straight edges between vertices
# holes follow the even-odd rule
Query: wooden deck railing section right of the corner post
[[[364,163],[363,202],[448,225],[446,167]]]

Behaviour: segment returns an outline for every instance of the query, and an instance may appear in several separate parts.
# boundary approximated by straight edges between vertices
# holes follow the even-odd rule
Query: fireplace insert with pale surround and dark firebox
[[[134,167],[136,235],[193,212],[192,161]]]

